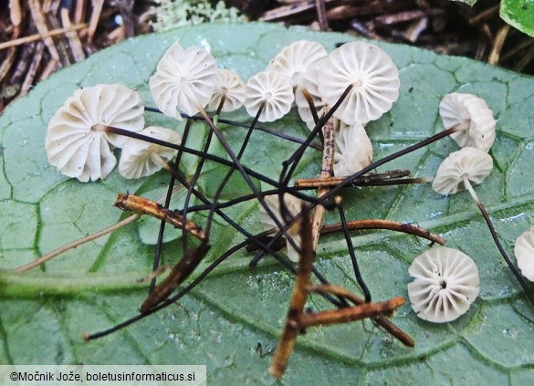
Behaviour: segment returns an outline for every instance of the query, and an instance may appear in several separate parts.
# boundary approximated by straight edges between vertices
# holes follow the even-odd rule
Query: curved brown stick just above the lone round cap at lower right
[[[402,232],[404,234],[416,235],[427,240],[445,245],[445,239],[439,235],[435,235],[430,231],[413,224],[404,224],[391,220],[365,219],[354,220],[347,222],[347,228],[350,231],[361,231],[364,229],[388,229],[390,231]],[[341,224],[325,224],[321,229],[321,234],[331,234],[340,232],[342,230]]]

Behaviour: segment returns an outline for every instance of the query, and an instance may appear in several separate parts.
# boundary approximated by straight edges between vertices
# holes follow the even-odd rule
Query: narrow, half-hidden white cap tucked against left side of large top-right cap
[[[304,97],[303,89],[306,89],[309,93],[309,96],[313,100],[313,105],[317,110],[317,115],[320,118],[324,114],[325,103],[320,98],[318,80],[319,80],[319,68],[320,61],[325,60],[325,57],[319,59],[319,62],[312,68],[308,68],[302,78],[301,84],[298,89],[295,90],[295,102],[298,107],[298,115],[300,119],[306,123],[309,130],[313,130],[315,127],[315,120],[313,120],[313,115],[311,110],[309,110],[308,99]]]

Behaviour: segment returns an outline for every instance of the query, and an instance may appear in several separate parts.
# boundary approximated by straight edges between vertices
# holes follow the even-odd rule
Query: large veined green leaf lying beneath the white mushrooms
[[[146,104],[153,106],[147,80],[163,51],[177,38],[184,46],[211,47],[222,66],[236,70],[243,78],[264,69],[291,41],[306,38],[332,49],[337,43],[354,39],[265,24],[194,26],[129,39],[42,82],[0,117],[2,268],[26,264],[126,217],[111,206],[117,193],[153,192],[153,198],[158,198],[168,180],[163,172],[137,182],[122,179],[118,172],[98,183],[65,178],[48,165],[44,138],[47,120],[80,86],[120,82],[139,89]],[[400,69],[402,86],[393,110],[368,125],[375,159],[442,130],[437,109],[446,93],[471,92],[486,99],[497,117],[497,141],[491,151],[497,167],[485,183],[476,186],[476,192],[512,254],[515,238],[534,223],[534,174],[530,169],[534,162],[534,79],[462,57],[379,44]],[[251,120],[243,111],[232,117]],[[183,130],[183,124],[153,113],[147,113],[146,120]],[[299,137],[309,132],[294,111],[272,127]],[[245,130],[224,130],[238,149]],[[194,141],[200,149],[205,132],[197,131],[201,134]],[[255,132],[245,162],[276,178],[280,162],[295,149],[295,144]],[[433,175],[455,149],[455,142],[445,139],[379,172],[408,169],[416,176]],[[306,157],[298,177],[319,172],[318,152],[308,151]],[[194,157],[187,159],[184,170],[188,174],[195,162]],[[215,170],[212,164],[206,176],[224,172]],[[202,181],[202,189],[213,191],[213,183]],[[242,183],[237,183],[242,189]],[[231,193],[232,186],[228,189]],[[361,323],[309,329],[298,337],[284,382],[475,384],[485,380],[503,385],[531,381],[533,309],[492,244],[467,193],[442,197],[424,184],[346,190],[343,199],[351,219],[417,223],[444,235],[447,245],[462,249],[475,260],[481,278],[480,296],[465,316],[445,325],[416,318],[409,304],[400,308],[393,321],[414,337],[414,349],[393,341],[371,323],[366,323],[365,329]],[[240,203],[227,213],[247,229],[261,228],[256,203]],[[202,224],[203,215],[198,217]],[[329,214],[330,221],[334,218]],[[272,383],[267,373],[271,357],[260,356],[257,344],[261,343],[264,352],[276,346],[293,278],[270,259],[251,272],[247,265],[252,254],[246,251],[218,267],[179,305],[110,337],[89,343],[81,339],[83,332],[107,329],[137,314],[147,289],[136,278],[150,271],[154,248],[142,243],[149,235],[141,232],[140,236],[139,232],[139,224],[129,224],[57,257],[33,274],[0,272],[0,362],[206,364],[214,384]],[[195,275],[243,238],[217,221],[212,240],[206,262]],[[379,231],[354,234],[352,241],[373,298],[407,297],[408,266],[428,243]],[[179,259],[181,244],[174,240],[165,245],[166,264]],[[340,235],[321,238],[317,266],[332,283],[358,292]],[[313,297],[309,307],[326,305]]]

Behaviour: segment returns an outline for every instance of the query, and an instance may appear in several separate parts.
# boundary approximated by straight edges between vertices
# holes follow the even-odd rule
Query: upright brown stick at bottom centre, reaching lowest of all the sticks
[[[311,224],[308,207],[304,204],[302,205],[301,214],[300,237],[302,247],[298,260],[297,278],[293,287],[293,295],[288,309],[284,332],[278,340],[277,349],[269,367],[269,372],[277,379],[282,377],[288,367],[289,356],[295,345],[295,339],[297,339],[298,333],[300,332],[295,321],[302,315],[304,305],[306,304],[306,298],[308,297],[306,288],[309,286],[309,276],[311,276],[315,256],[315,252],[311,248]]]

